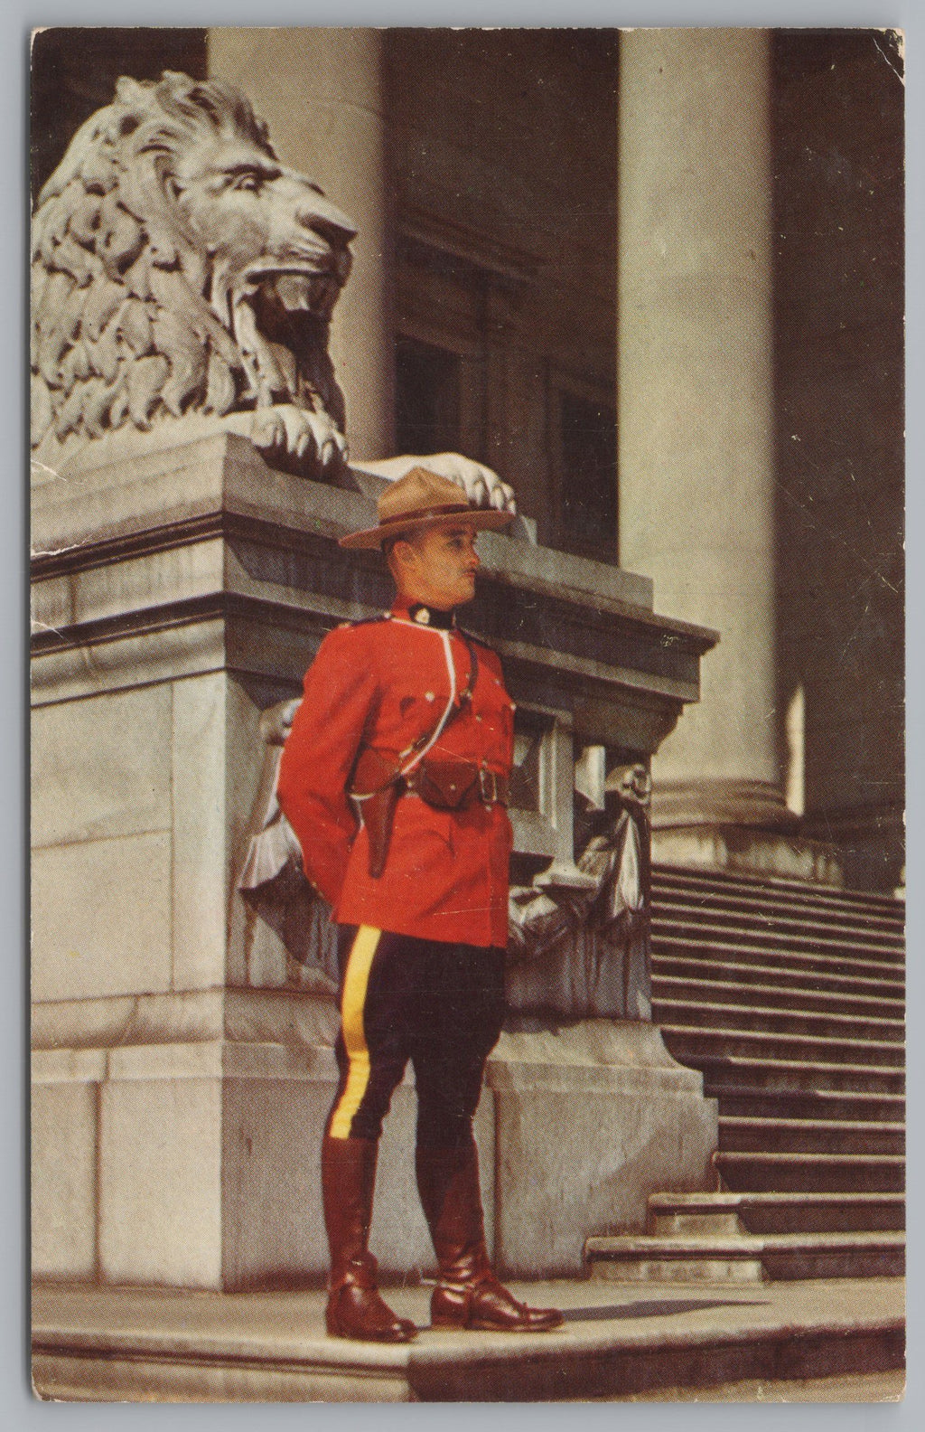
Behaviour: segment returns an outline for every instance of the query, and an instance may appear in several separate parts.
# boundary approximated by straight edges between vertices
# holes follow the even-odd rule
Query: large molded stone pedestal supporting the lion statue
[[[190,430],[192,431],[192,430]],[[259,815],[261,712],[298,695],[322,634],[389,600],[336,537],[372,504],[275,473],[243,438],[100,445],[34,493],[33,1269],[183,1287],[321,1279],[318,1144],[336,1010],[236,891]],[[523,527],[521,527],[523,531]],[[505,662],[523,862],[571,851],[571,762],[647,762],[696,700],[712,634],[656,617],[613,567],[485,534],[470,611]],[[593,593],[593,596],[591,596]],[[521,1021],[478,1140],[488,1232],[518,1273],[577,1270],[641,1227],[656,1189],[704,1187],[716,1107],[657,1030]],[[374,1247],[430,1262],[414,1091],[388,1121]]]

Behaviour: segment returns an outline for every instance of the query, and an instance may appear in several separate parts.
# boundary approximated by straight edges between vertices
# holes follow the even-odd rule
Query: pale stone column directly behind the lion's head
[[[354,271],[331,325],[351,455],[394,453],[392,239],[382,34],[371,29],[212,29],[209,76],[238,84],[279,158],[357,225]]]

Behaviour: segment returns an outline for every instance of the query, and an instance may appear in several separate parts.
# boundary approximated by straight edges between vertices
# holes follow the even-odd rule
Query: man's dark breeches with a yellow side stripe
[[[411,1060],[418,1146],[468,1143],[504,1020],[504,951],[342,925],[338,958],[341,1078],[328,1134],[378,1138]]]

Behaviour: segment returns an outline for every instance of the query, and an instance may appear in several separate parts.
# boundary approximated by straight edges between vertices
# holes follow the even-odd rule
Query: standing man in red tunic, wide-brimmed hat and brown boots
[[[305,872],[339,925],[339,1084],[322,1143],[331,1247],[328,1332],[407,1342],[368,1250],[378,1138],[411,1060],[418,1191],[440,1266],[434,1326],[547,1329],[518,1303],[484,1239],[473,1116],[504,1017],[514,707],[494,652],[454,609],[475,593],[475,533],[510,513],[471,508],[412,468],[379,498],[391,611],[322,642],[279,769]]]

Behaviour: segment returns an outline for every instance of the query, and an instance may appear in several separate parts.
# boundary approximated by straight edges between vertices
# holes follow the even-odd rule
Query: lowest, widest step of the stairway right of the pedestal
[[[905,1234],[767,1233],[716,1237],[610,1236],[584,1244],[591,1277],[653,1282],[899,1277]]]

